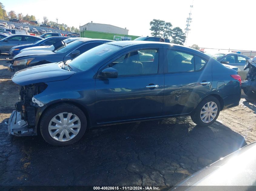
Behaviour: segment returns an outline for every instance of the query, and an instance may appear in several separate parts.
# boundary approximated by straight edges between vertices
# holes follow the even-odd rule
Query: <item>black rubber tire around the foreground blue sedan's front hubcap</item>
[[[54,116],[58,115],[59,113],[63,113],[63,112],[75,114],[81,122],[81,127],[80,127],[78,134],[75,135],[74,138],[72,138],[68,141],[61,142],[61,141],[58,141],[58,140],[55,140],[54,138],[52,138],[52,136],[50,135],[50,133],[48,131],[48,126]],[[75,105],[72,105],[69,103],[58,104],[58,105],[55,105],[55,106],[47,109],[42,115],[43,116],[40,120],[40,131],[41,131],[42,137],[45,139],[45,141],[51,145],[55,145],[55,146],[71,145],[71,144],[77,142],[78,140],[80,140],[82,138],[82,136],[85,134],[85,130],[87,127],[86,116],[85,116],[84,112],[82,110],[80,110],[78,107],[76,107]]]

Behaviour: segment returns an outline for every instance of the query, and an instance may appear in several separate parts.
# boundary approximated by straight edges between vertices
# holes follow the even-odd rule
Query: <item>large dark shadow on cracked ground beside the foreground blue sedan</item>
[[[172,186],[246,145],[227,126],[199,127],[190,117],[88,129],[65,147],[0,127],[2,185]]]

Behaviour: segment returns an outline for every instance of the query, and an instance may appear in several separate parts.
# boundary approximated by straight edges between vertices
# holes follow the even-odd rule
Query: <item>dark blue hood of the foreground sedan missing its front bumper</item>
[[[58,63],[50,63],[32,66],[16,72],[12,76],[12,81],[18,85],[36,84],[40,82],[50,82],[68,79],[75,72],[61,69]]]

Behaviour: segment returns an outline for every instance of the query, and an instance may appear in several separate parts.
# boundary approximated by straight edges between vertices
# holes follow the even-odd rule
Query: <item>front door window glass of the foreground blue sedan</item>
[[[118,71],[118,76],[158,73],[158,49],[143,49],[127,53],[112,62],[109,67]]]

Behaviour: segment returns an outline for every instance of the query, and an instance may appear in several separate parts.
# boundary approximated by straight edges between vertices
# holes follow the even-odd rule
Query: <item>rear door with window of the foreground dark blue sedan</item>
[[[212,83],[211,63],[184,49],[165,49],[163,114],[190,113]]]

